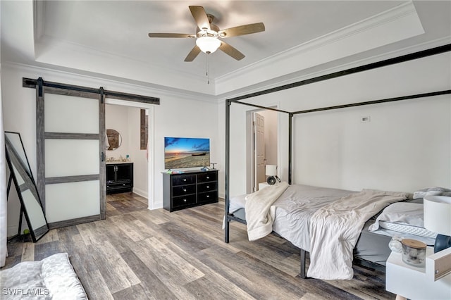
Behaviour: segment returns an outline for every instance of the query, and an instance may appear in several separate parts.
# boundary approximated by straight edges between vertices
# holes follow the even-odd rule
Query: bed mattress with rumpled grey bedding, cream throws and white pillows
[[[265,199],[270,198],[271,196],[268,195],[271,195],[271,189],[276,190],[277,185],[261,189],[261,191],[252,194],[252,196],[255,198],[255,201],[261,202],[258,195]],[[436,190],[437,188],[432,189]],[[442,188],[439,193],[447,191],[449,190]],[[256,195],[257,197],[255,197]],[[230,199],[228,210],[229,220],[237,220],[246,224],[246,217],[252,218],[252,213],[247,213],[249,209],[261,211],[259,206],[253,207],[248,205],[248,201],[253,200],[249,196],[239,195]],[[423,211],[421,195],[417,195],[417,199],[414,200],[412,200],[412,196],[412,194],[402,192],[368,189],[357,192],[309,185],[288,185],[288,187],[284,188],[276,196],[275,200],[270,201],[271,204],[268,213],[272,215],[268,215],[264,220],[273,219],[271,221],[271,230],[266,230],[264,233],[258,230],[256,235],[252,233],[252,230],[249,230],[248,225],[249,240],[256,240],[270,232],[274,232],[297,246],[301,251],[300,276],[302,278],[315,277],[325,280],[351,279],[353,275],[352,261],[377,270],[385,269],[385,261],[391,252],[388,245],[394,235],[402,238],[419,239],[426,244],[433,245],[435,234],[428,232],[428,230],[422,227]],[[350,228],[355,229],[354,236],[349,234],[349,229],[343,230],[344,233],[337,235],[337,239],[340,239],[340,242],[332,245],[333,247],[339,248],[334,250],[334,252],[338,251],[340,254],[339,257],[336,257],[336,255],[328,257],[327,244],[335,243],[333,242],[334,237],[328,237],[327,239],[330,242],[324,243],[322,241],[323,233],[320,235],[320,242],[317,243],[316,248],[313,247],[312,249],[311,228],[314,222],[312,217],[318,211],[326,207],[333,207],[334,204],[335,207],[344,206],[345,209],[342,211],[347,211],[352,206],[346,204],[351,203],[352,199],[356,199],[357,205],[352,210],[354,212],[362,212],[362,203],[368,198],[371,198],[371,200],[367,201],[365,207],[371,207],[369,209],[363,208],[366,214],[362,214],[362,218],[359,218],[359,220],[353,220],[350,226]],[[355,215],[355,213],[351,213],[351,215]],[[348,217],[349,214],[346,218]],[[323,215],[320,215],[319,220],[321,221],[323,219]],[[330,226],[329,224],[327,225]],[[228,227],[228,222],[226,222],[225,226]],[[340,225],[339,227],[343,226]],[[338,229],[333,226],[331,228],[335,235]],[[345,242],[343,240],[345,239],[350,239],[349,246],[344,246]],[[340,251],[342,250],[340,248],[346,247],[350,247],[350,254],[341,254]],[[318,254],[323,248],[323,252],[326,252],[326,257],[323,256],[324,254]],[[309,273],[306,273],[305,257],[306,253],[311,250],[314,250],[314,252],[310,253]],[[345,265],[343,267],[340,259],[345,256],[350,256],[351,258],[350,261],[344,263]],[[318,263],[314,260],[318,261]],[[324,268],[324,265],[326,265],[326,268]],[[310,268],[314,268],[314,270],[310,272]]]

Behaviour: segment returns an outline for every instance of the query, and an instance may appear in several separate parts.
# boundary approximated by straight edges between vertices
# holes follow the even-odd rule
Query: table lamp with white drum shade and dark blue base
[[[451,197],[424,197],[424,227],[437,232],[434,253],[451,247]]]

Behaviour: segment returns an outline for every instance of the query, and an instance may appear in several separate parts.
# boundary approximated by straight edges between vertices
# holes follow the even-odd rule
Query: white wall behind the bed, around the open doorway
[[[451,54],[439,54],[246,101],[263,106],[273,106],[278,101],[280,109],[301,111],[435,92],[451,88],[450,61]],[[448,94],[295,116],[293,182],[405,192],[431,186],[451,187],[450,102]],[[245,192],[243,128],[245,111],[252,109],[240,104],[230,107],[230,196]],[[364,116],[369,116],[371,122],[361,123]],[[285,114],[280,115],[283,180],[288,179],[288,167],[283,163],[288,157],[287,119]]]

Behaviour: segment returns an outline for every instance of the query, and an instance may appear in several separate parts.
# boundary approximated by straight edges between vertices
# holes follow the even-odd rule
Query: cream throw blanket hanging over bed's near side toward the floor
[[[366,220],[407,193],[364,189],[319,208],[309,220],[310,265],[307,276],[352,279],[352,251]]]

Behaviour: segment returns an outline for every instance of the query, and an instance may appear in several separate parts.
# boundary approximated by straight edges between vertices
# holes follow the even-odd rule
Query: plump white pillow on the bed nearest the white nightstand
[[[380,228],[420,237],[437,236],[435,232],[424,228],[423,204],[412,202],[397,202],[387,206],[368,230],[376,231]]]

